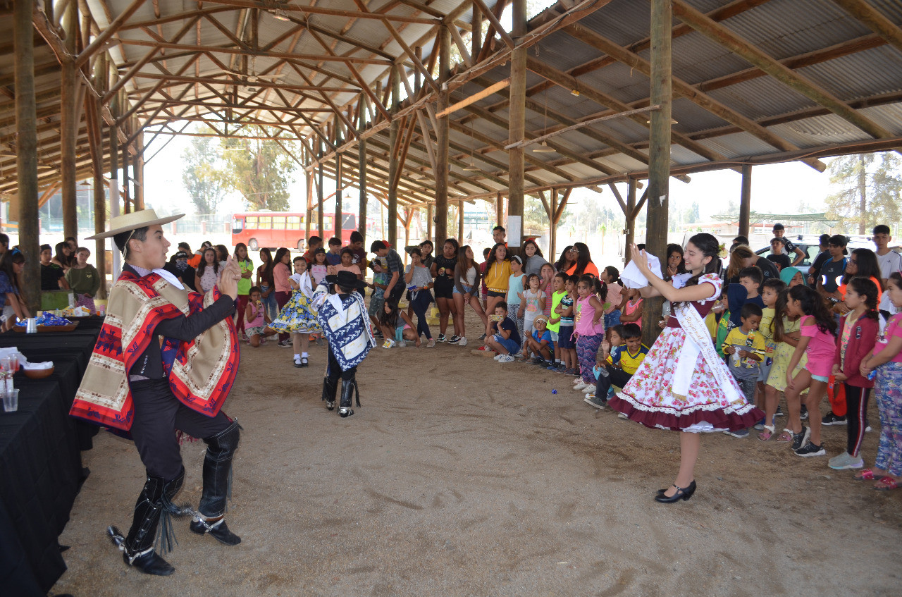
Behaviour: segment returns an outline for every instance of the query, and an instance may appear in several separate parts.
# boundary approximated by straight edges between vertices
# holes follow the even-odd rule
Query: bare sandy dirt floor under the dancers
[[[174,575],[127,568],[104,529],[128,528],[143,468],[133,445],[101,434],[60,537],[69,572],[51,594],[902,593],[902,491],[774,440],[717,434],[703,439],[695,496],[658,504],[676,433],[593,409],[572,378],[473,356],[474,344],[374,349],[348,419],[320,401],[324,347],[295,369],[289,350],[243,346],[226,403],[244,426],[227,515],[241,545],[179,521]],[[824,428],[830,455],[845,433]],[[203,445],[182,455],[178,501],[196,505]]]

